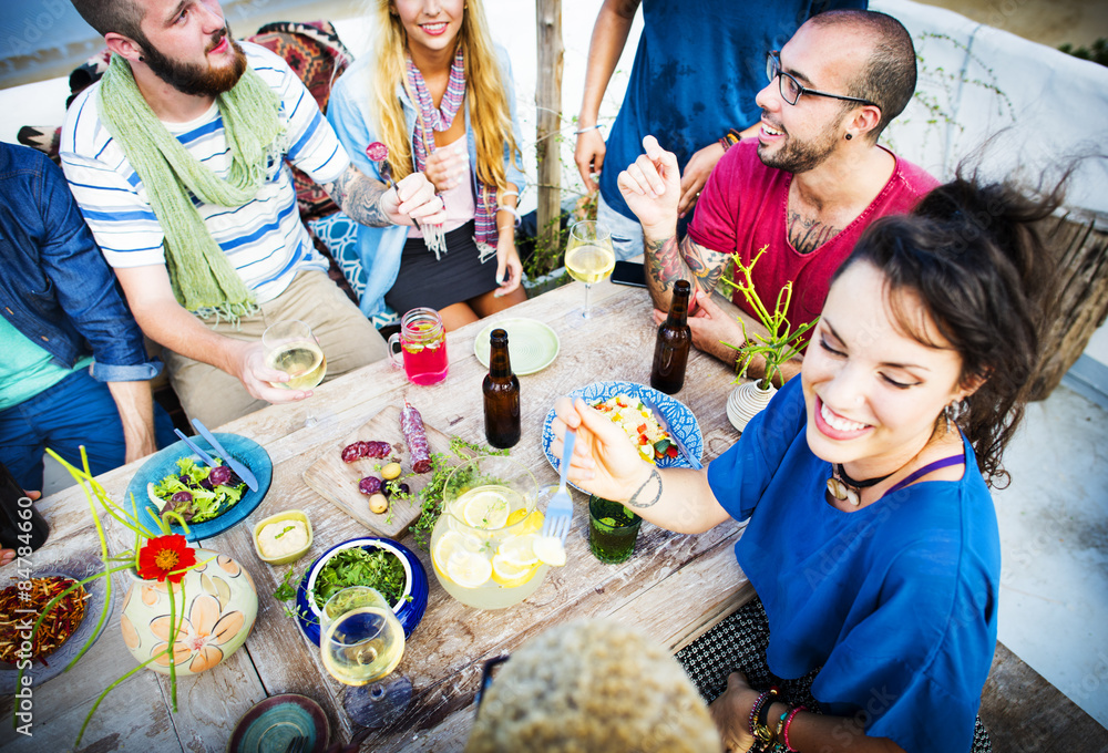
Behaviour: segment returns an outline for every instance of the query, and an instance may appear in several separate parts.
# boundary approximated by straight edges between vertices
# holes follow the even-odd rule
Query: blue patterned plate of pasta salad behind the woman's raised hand
[[[570,393],[570,398],[576,400],[582,398],[586,403],[606,413],[612,421],[622,425],[627,433],[627,441],[635,445],[644,461],[654,463],[659,468],[690,467],[688,461],[681,457],[677,451],[677,445],[669,439],[668,433],[658,425],[657,420],[650,414],[650,409],[643,404],[643,400],[654,403],[661,414],[669,422],[669,427],[685,443],[689,453],[700,460],[704,454],[704,437],[700,435],[700,425],[697,423],[693,411],[685,403],[670,398],[664,392],[658,392],[645,384],[635,382],[594,382],[587,386],[578,388]],[[546,414],[543,423],[543,452],[546,460],[558,470],[560,458],[551,452],[554,443],[554,409]],[[577,486],[574,488],[581,489]]]

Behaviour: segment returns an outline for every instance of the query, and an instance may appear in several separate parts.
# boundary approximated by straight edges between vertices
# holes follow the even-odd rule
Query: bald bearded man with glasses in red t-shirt
[[[915,91],[915,49],[884,13],[830,11],[809,19],[767,62],[758,93],[758,137],[740,142],[705,184],[688,236],[677,239],[680,173],[653,136],[646,154],[619,175],[619,189],[643,224],[646,279],[661,321],[673,283],[693,280],[699,309],[694,344],[729,363],[742,329],[710,292],[732,254],[749,264],[755,288],[772,309],[790,280],[794,330],[823,308],[831,276],[862,230],[882,215],[909,212],[936,184],[926,172],[879,146],[878,136]],[[741,293],[733,302],[748,322]],[[749,327],[749,323],[748,323]],[[749,374],[760,375],[761,363]],[[800,361],[786,364],[788,379]]]

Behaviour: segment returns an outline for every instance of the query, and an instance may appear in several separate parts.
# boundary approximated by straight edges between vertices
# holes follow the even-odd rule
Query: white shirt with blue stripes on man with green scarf
[[[279,56],[243,42],[247,64],[281,101],[285,157],[316,183],[336,180],[350,164],[311,94]],[[62,128],[62,168],[85,221],[112,267],[165,264],[164,234],[146,189],[100,118],[100,84],[70,105]],[[230,173],[230,151],[217,105],[189,123],[165,123],[188,152],[220,178]],[[287,163],[271,166],[255,198],[239,207],[202,204],[201,217],[254,291],[257,302],[279,296],[302,269],[327,270],[327,261],[300,221]]]

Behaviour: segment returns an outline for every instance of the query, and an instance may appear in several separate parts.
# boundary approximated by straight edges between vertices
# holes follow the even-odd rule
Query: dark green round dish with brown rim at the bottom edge
[[[223,442],[222,436],[219,441]],[[307,695],[273,695],[256,703],[238,720],[227,742],[227,753],[285,753],[297,736],[308,739],[304,753],[326,751],[330,737],[327,714]]]

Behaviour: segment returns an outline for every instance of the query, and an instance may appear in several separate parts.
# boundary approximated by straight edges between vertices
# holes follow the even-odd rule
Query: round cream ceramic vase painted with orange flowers
[[[207,561],[205,561],[207,560]],[[196,561],[179,584],[173,584],[177,635],[173,662],[178,677],[212,669],[237,651],[258,615],[258,592],[250,574],[237,561],[208,549],[196,549]],[[129,570],[131,586],[123,597],[120,627],[123,642],[140,663],[170,673],[168,581],[145,580]]]

